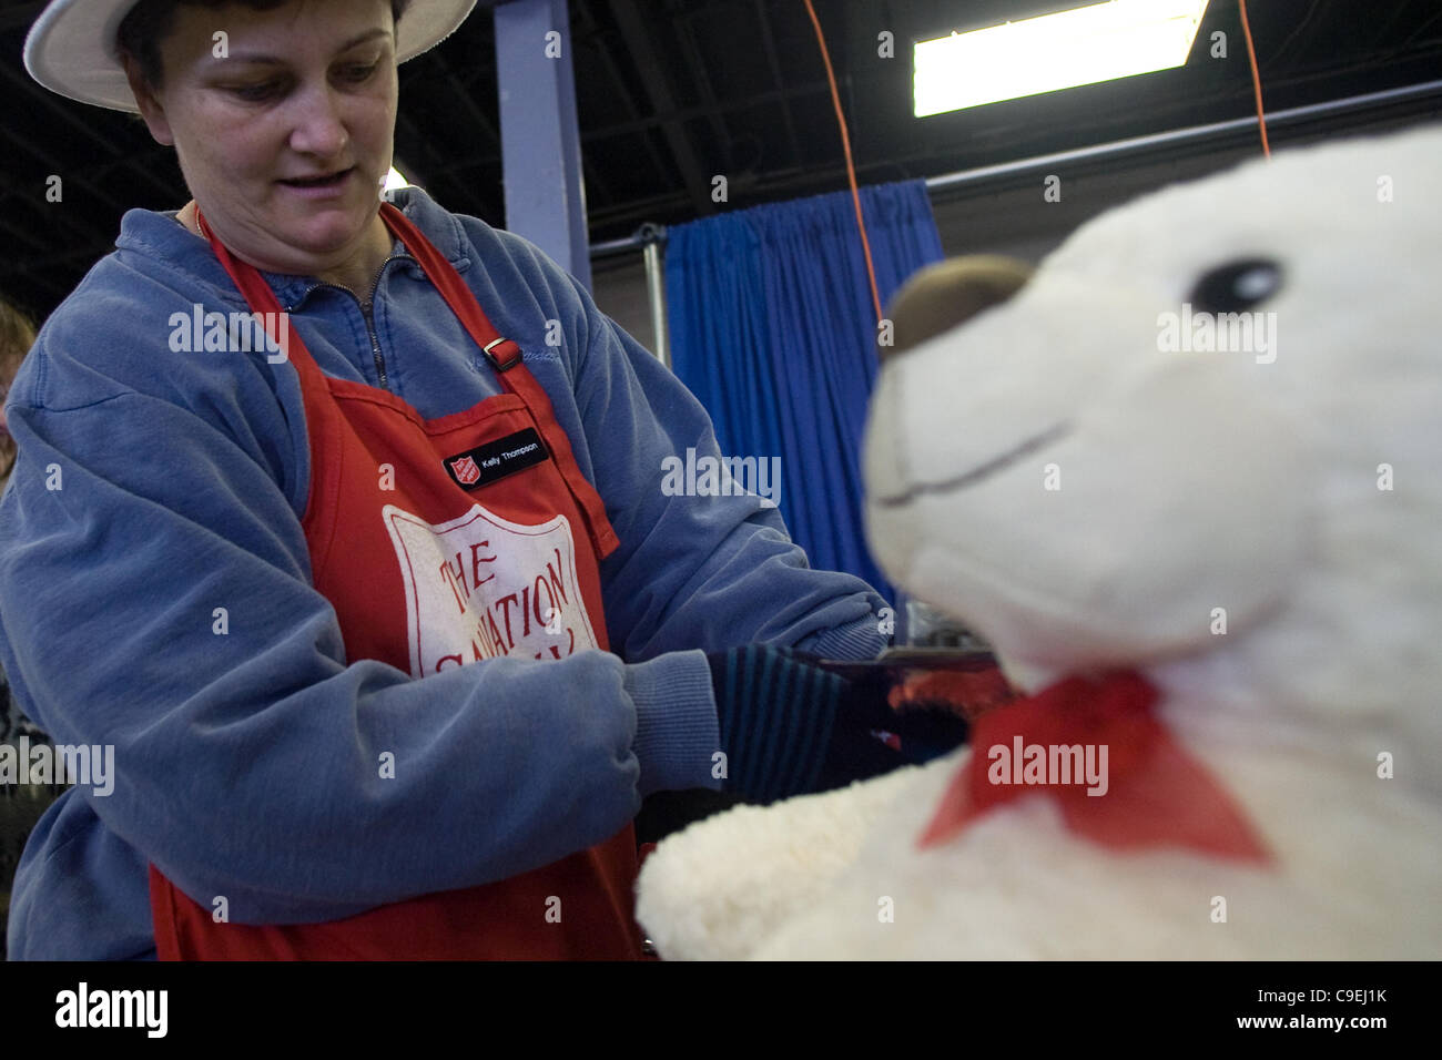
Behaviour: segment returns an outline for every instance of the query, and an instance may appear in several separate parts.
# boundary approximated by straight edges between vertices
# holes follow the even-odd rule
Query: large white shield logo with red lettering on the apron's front
[[[564,659],[598,648],[564,515],[526,526],[472,505],[437,525],[386,505],[381,516],[405,583],[412,676],[502,655]]]

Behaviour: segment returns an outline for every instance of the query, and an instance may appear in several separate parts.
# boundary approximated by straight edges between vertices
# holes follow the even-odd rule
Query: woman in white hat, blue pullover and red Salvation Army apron
[[[379,202],[397,63],[470,6],[32,29],[193,199],[125,215],[10,397],[0,663],[115,763],[36,828],[14,956],[636,956],[643,796],[900,763],[782,648],[874,656],[883,601],[754,496],[662,493],[704,411],[539,251]]]

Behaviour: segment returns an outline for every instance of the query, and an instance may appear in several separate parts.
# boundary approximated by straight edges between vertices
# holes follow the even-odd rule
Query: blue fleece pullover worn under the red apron
[[[523,348],[606,502],[622,542],[601,564],[614,653],[424,681],[348,665],[300,526],[294,368],[172,352],[172,314],[247,306],[173,213],[130,211],[7,408],[0,665],[56,743],[114,746],[115,773],[111,795],[71,789],[30,836],[13,958],[153,956],[147,862],[225,896],[236,923],[332,920],[538,868],[614,835],[649,792],[720,783],[702,650],[883,648],[881,599],[810,570],[773,508],[660,489],[665,457],[717,454],[711,423],[583,287],[418,190],[397,205]],[[502,392],[399,244],[373,294],[378,349],[352,293],[262,275],[327,375],[378,387],[384,371],[427,418]]]

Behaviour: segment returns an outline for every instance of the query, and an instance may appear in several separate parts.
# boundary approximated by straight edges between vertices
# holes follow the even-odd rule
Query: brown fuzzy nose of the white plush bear
[[[894,345],[883,348],[881,356],[904,353],[1005,301],[1031,273],[1025,261],[995,254],[950,258],[923,268],[891,300]]]

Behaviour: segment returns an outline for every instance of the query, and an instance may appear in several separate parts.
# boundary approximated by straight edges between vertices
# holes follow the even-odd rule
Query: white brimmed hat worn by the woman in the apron
[[[25,39],[25,68],[52,92],[138,114],[115,49],[115,32],[138,1],[53,0]],[[395,25],[395,61],[428,52],[474,6],[476,0],[412,0]]]

